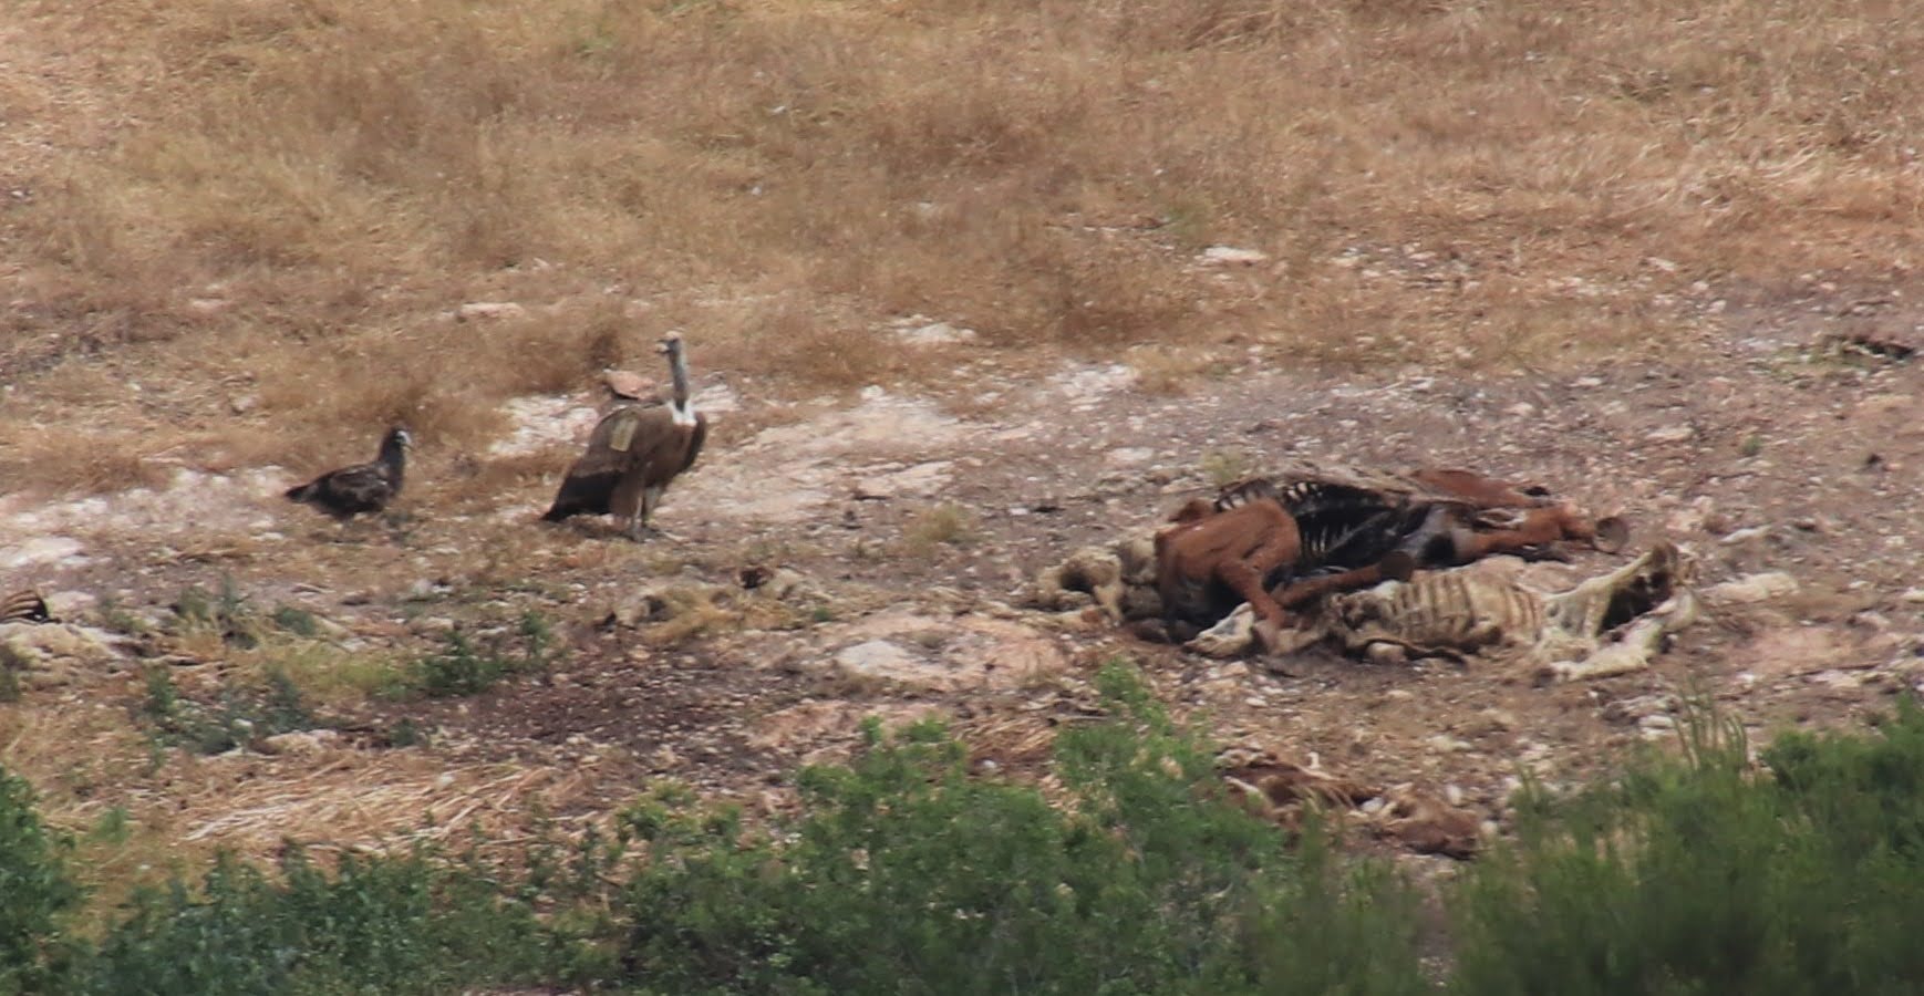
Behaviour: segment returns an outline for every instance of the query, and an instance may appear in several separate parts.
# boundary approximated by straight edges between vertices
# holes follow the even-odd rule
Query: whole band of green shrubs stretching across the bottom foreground
[[[806,769],[802,809],[750,825],[664,783],[612,834],[519,861],[291,848],[81,906],[69,844],[0,773],[0,981],[75,992],[1907,992],[1924,971],[1924,710],[1878,733],[1687,715],[1441,884],[1297,850],[1235,806],[1197,733],[1139,677],[1056,744],[1064,796],[974,777],[939,727]],[[100,923],[81,923],[81,915]],[[1437,915],[1445,915],[1437,923]],[[98,940],[83,940],[98,938]],[[858,942],[860,940],[860,942]],[[1443,979],[1418,959],[1447,944]]]

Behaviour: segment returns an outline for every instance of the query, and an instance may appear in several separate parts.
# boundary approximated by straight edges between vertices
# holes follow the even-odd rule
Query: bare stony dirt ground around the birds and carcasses
[[[772,410],[708,371],[710,448],[658,515],[668,536],[645,544],[606,523],[535,521],[595,417],[593,385],[512,406],[494,454],[423,448],[392,525],[341,531],[283,502],[323,469],[308,465],[181,467],[164,486],[71,502],[13,494],[0,498],[8,586],[42,588],[102,635],[142,617],[154,633],[29,663],[21,702],[0,706],[0,748],[62,821],[125,808],[167,848],[264,854],[283,836],[354,844],[468,823],[514,838],[535,819],[598,819],[652,777],[781,808],[797,765],[837,758],[864,715],[949,717],[985,771],[1047,775],[1052,729],[1095,710],[1093,671],[1129,658],[1224,742],[1501,819],[1518,775],[1608,771],[1666,736],[1685,694],[1766,735],[1859,721],[1918,685],[1914,294],[1816,277],[1718,288],[1676,306],[1662,350],[1541,375],[1308,371],[1253,354],[1158,394],[1126,367],[999,375],[993,352],[962,344],[943,346],[956,377],[941,394]],[[698,365],[698,331],[691,344]],[[366,460],[360,448],[339,446]],[[1687,544],[1705,586],[1782,571],[1795,588],[1712,604],[1645,673],[1553,686],[1476,663],[1208,661],[1022,608],[1022,586],[1074,548],[1212,477],[1301,460],[1547,483],[1628,515],[1632,552]],[[491,461],[525,473],[489,477]],[[1585,552],[1568,571],[1616,561]],[[775,567],[798,575],[781,575],[793,590],[743,590],[743,571]],[[185,588],[223,585],[325,629],[248,652],[160,633]],[[135,733],[142,663],[212,698],[266,663],[404,661],[450,627],[487,638],[527,611],[550,619],[560,652],[477,696],[323,694],[342,733],[273,754],[156,758]],[[402,717],[427,740],[389,746]]]

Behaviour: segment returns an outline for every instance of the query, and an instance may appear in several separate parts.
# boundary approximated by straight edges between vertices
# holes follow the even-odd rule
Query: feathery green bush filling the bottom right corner
[[[1747,763],[1695,717],[1682,761],[1530,800],[1462,896],[1456,990],[1916,992],[1924,981],[1924,715],[1882,736],[1789,735]]]

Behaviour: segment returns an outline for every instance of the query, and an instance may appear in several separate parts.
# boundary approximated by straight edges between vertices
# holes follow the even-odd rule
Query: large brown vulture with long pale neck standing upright
[[[689,400],[689,361],[681,335],[662,336],[673,377],[673,400],[666,406],[621,406],[602,415],[583,452],[562,479],[562,490],[544,521],[570,515],[616,515],[627,519],[627,535],[641,540],[648,515],[662,502],[668,483],[695,465],[708,436],[708,417]]]

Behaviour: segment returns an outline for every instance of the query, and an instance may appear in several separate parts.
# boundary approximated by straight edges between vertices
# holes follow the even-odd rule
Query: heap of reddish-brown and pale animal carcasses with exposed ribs
[[[1535,485],[1458,469],[1299,467],[1077,550],[1037,577],[1029,600],[1214,658],[1312,648],[1374,663],[1483,658],[1576,681],[1647,667],[1695,621],[1695,561],[1657,542],[1568,590],[1539,590],[1518,565],[1626,542],[1620,519]]]

